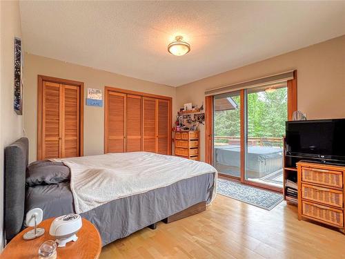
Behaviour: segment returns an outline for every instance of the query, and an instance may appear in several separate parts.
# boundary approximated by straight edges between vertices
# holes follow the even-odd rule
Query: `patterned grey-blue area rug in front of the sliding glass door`
[[[240,182],[218,179],[217,193],[270,211],[283,200],[283,195]]]

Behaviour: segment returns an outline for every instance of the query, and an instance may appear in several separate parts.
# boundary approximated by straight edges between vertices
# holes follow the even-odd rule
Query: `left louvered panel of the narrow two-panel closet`
[[[62,155],[62,90],[59,84],[43,81],[42,159]]]

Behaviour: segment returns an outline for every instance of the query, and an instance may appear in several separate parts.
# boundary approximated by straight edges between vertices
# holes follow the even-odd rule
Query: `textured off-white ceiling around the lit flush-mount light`
[[[345,1],[21,1],[27,52],[179,86],[345,34]],[[167,46],[190,43],[182,57]]]

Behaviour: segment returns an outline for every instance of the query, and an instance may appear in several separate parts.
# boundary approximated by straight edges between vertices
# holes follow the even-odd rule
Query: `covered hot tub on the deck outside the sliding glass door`
[[[239,145],[215,146],[216,164],[239,168],[239,155]],[[282,169],[282,155],[282,148],[248,146],[246,169],[249,171],[249,176],[253,178],[262,178],[270,173]]]

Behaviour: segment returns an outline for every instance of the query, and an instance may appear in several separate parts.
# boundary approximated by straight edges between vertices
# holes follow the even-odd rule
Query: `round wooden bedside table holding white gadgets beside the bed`
[[[54,218],[44,220],[38,227],[43,227],[45,233],[43,236],[33,240],[23,240],[23,234],[32,227],[24,229],[15,236],[3,250],[0,258],[39,258],[39,247],[47,240],[55,240],[49,235],[50,224]],[[96,227],[86,219],[83,220],[83,227],[77,233],[76,242],[68,242],[66,247],[57,247],[57,258],[99,258],[101,253],[101,237]]]

